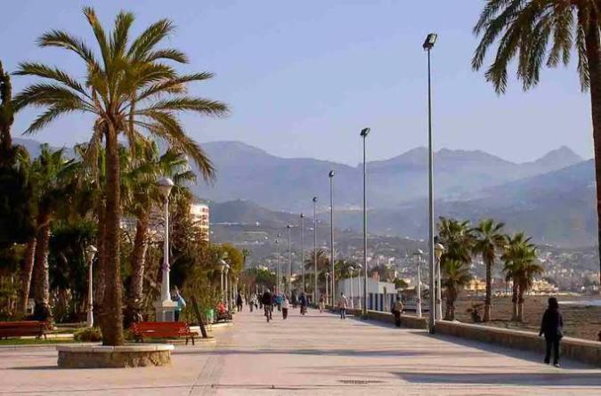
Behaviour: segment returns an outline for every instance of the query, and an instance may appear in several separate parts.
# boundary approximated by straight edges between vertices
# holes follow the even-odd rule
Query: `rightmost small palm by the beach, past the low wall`
[[[505,263],[503,267],[505,280],[512,281],[511,303],[513,304],[513,310],[511,320],[520,320],[519,306],[524,267],[527,267],[529,263],[532,263],[536,257],[536,249],[530,243],[530,239],[531,238],[526,238],[524,232],[517,232],[513,237],[507,238],[505,251],[503,255],[501,255],[501,260]],[[524,286],[527,286],[527,282]],[[522,296],[522,300],[523,297],[524,296]]]

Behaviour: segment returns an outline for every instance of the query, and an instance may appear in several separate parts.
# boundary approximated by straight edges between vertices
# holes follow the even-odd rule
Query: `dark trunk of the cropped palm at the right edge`
[[[593,141],[595,146],[595,178],[597,182],[597,242],[601,258],[601,44],[599,43],[599,16],[590,10],[589,27],[585,43],[589,61],[590,110],[593,120]],[[599,262],[601,281],[601,261]]]

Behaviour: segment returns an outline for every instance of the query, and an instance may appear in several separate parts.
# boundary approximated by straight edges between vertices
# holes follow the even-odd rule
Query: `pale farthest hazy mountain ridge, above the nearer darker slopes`
[[[196,192],[215,201],[249,199],[281,210],[306,210],[313,195],[329,206],[330,169],[336,171],[337,207],[361,204],[361,166],[346,166],[312,158],[279,158],[236,141],[204,143],[217,169],[212,186]],[[529,163],[515,164],[480,150],[440,150],[435,153],[435,193],[443,199],[479,197],[480,190],[544,174],[581,162],[562,147]],[[368,164],[370,206],[394,207],[427,194],[427,150],[418,148]]]

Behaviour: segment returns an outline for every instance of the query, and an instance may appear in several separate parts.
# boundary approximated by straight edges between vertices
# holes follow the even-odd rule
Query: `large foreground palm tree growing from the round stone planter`
[[[168,142],[172,148],[194,160],[203,176],[213,174],[213,166],[199,145],[188,137],[177,113],[193,111],[202,115],[219,116],[227,106],[217,101],[191,97],[185,87],[194,81],[212,77],[210,73],[180,76],[166,61],[185,63],[184,53],[160,44],[174,29],[169,20],[159,20],[130,41],[134,15],[119,12],[114,28],[105,31],[90,7],[85,7],[85,18],[92,28],[99,51],[94,52],[85,42],[69,33],[52,30],[40,37],[43,47],[59,47],[76,53],[84,62],[86,74],[81,81],[61,69],[40,63],[21,63],[20,76],[42,77],[45,83],[29,85],[15,98],[16,108],[37,106],[45,108],[29,125],[27,133],[34,133],[70,112],[89,113],[94,117],[93,133],[86,158],[95,158],[102,140],[106,155],[105,210],[106,227],[103,254],[106,292],[103,306],[106,320],[102,320],[103,343],[123,343],[122,285],[119,265],[120,164],[118,135],[124,134],[134,147],[142,133],[150,133]]]

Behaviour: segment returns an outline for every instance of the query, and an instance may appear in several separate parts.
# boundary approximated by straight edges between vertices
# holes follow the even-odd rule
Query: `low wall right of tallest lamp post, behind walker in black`
[[[539,352],[541,359],[545,354],[544,338],[528,331],[472,325],[446,320],[437,321],[435,330],[438,334],[454,335],[484,343],[496,343],[509,348]],[[596,341],[564,337],[561,343],[561,355],[601,367],[601,343],[597,343]]]

